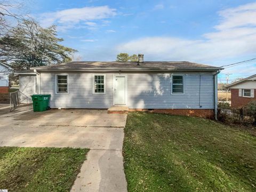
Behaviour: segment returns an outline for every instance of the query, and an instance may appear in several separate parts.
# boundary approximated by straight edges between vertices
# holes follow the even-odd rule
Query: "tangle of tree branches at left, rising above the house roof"
[[[70,55],[77,51],[60,44],[63,39],[57,37],[56,26],[43,28],[28,15],[18,14],[24,8],[20,2],[28,0],[13,1],[0,0],[0,62],[24,70],[71,61]]]

